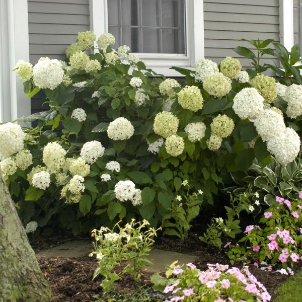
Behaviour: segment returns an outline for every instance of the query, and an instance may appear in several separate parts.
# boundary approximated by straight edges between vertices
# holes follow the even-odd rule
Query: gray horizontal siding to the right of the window
[[[240,59],[243,67],[250,60],[233,48],[253,48],[242,38],[279,41],[279,0],[204,0],[204,52],[207,59],[219,63],[225,56]],[[263,60],[272,63],[266,56]]]

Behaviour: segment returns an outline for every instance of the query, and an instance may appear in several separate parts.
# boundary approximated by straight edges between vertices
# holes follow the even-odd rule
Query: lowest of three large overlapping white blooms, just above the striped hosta
[[[267,142],[267,149],[279,164],[287,165],[299,154],[299,135],[292,128],[287,127],[285,131]]]

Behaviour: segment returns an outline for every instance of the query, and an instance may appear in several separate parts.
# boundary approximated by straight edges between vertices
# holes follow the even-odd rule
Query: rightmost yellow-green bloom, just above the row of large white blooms
[[[256,88],[263,96],[265,103],[272,103],[277,97],[276,81],[267,75],[257,74],[251,81],[252,87]]]

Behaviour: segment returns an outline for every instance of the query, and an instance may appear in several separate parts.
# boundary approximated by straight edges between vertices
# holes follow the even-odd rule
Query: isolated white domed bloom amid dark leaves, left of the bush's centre
[[[134,133],[131,122],[124,117],[118,117],[111,122],[107,129],[108,137],[113,140],[129,139]]]

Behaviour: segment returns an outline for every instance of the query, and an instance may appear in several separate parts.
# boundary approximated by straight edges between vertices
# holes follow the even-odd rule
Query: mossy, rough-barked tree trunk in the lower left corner
[[[0,173],[0,301],[50,300],[51,289]]]

